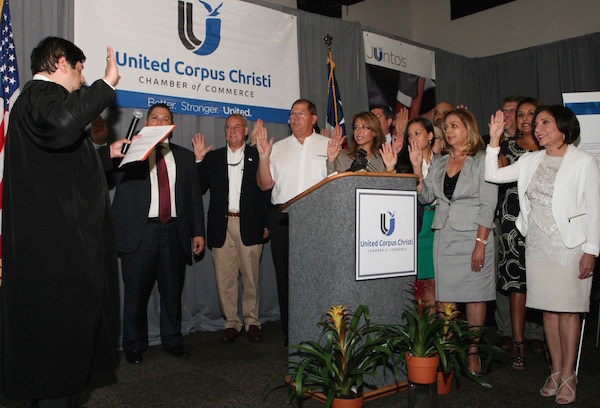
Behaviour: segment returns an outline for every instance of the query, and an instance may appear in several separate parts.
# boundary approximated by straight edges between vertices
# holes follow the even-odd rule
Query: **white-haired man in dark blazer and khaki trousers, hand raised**
[[[194,140],[200,162],[202,192],[210,189],[208,247],[215,265],[219,302],[225,316],[222,343],[233,342],[242,329],[238,316],[238,276],[241,276],[242,312],[250,341],[261,341],[258,279],[269,193],[258,188],[258,152],[245,144],[248,122],[239,114],[225,122],[227,146],[209,152],[204,136]]]

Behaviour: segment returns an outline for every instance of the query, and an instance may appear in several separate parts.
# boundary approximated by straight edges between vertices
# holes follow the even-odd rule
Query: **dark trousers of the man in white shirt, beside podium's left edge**
[[[288,337],[288,304],[289,304],[289,259],[290,259],[290,224],[288,214],[279,212],[279,206],[271,208],[271,254],[277,278],[277,296],[279,298],[279,314],[283,334]]]

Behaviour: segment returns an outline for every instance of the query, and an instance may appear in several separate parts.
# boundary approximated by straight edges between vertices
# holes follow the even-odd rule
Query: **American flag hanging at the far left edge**
[[[19,96],[19,72],[15,43],[10,25],[8,0],[2,0],[0,8],[2,21],[0,27],[0,96],[2,104],[2,122],[0,122],[0,234],[2,233],[2,181],[4,179],[4,142],[8,131],[8,114]],[[0,243],[2,236],[0,235]],[[0,245],[0,285],[2,285],[2,246]]]

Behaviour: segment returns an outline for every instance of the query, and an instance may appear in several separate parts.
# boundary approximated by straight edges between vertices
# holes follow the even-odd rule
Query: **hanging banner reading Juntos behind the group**
[[[409,117],[431,116],[435,107],[435,53],[364,31],[369,106],[383,105]]]

